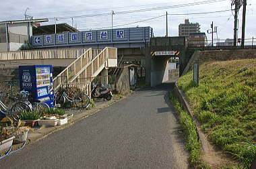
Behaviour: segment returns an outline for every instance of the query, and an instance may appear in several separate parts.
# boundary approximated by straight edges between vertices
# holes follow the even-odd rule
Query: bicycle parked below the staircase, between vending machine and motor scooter
[[[75,103],[79,108],[86,108],[90,103],[90,97],[86,93],[78,93],[73,98],[69,97],[66,93],[67,89],[59,89],[55,92],[55,107],[58,105],[64,105],[65,103]]]

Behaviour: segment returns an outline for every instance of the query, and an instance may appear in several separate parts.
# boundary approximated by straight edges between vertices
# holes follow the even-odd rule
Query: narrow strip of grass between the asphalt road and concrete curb
[[[195,122],[181,107],[181,104],[177,99],[173,97],[172,93],[169,93],[169,98],[172,100],[174,108],[179,112],[180,123],[182,125],[182,130],[185,133],[186,149],[189,152],[189,162],[197,168],[210,168],[207,164],[201,164],[201,142],[199,141],[199,136],[197,135],[197,129]]]

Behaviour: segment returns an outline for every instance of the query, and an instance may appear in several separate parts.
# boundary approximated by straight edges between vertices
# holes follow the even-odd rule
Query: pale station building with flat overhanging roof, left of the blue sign
[[[0,52],[18,50],[32,36],[32,27],[48,19],[0,21]]]

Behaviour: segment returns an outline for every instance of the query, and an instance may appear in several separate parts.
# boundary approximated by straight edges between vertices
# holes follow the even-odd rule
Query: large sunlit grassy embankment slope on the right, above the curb
[[[205,63],[197,87],[192,78],[190,71],[177,85],[201,128],[211,142],[249,168],[256,156],[256,59]]]

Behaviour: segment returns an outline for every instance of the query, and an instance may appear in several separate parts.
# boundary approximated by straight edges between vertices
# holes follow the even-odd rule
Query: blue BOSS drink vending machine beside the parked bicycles
[[[33,101],[53,107],[53,66],[19,66],[20,91],[28,91]]]

